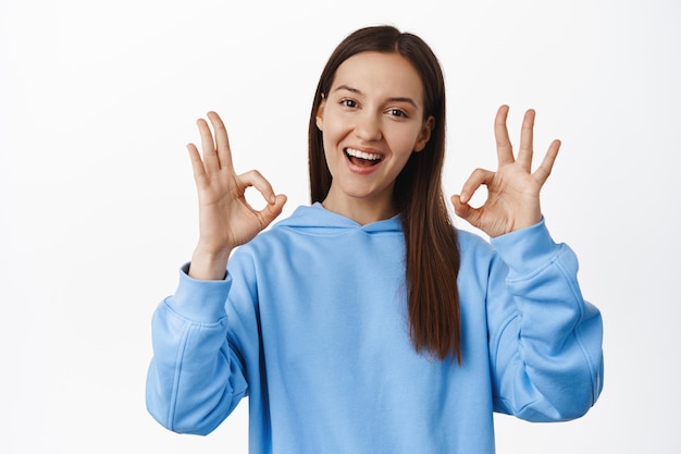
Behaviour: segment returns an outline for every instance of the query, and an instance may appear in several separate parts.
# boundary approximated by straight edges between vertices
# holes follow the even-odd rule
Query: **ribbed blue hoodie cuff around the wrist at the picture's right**
[[[532,226],[492,238],[491,243],[508,266],[508,278],[512,280],[542,271],[564,247],[550,237],[544,218]]]

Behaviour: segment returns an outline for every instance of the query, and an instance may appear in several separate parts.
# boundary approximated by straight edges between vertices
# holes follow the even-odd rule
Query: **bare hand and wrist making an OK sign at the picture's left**
[[[199,242],[191,257],[194,279],[223,279],[232,249],[248,243],[281,212],[286,196],[275,195],[270,183],[256,170],[237,175],[232,165],[227,131],[215,112],[208,112],[214,138],[203,119],[197,121],[203,157],[194,144],[187,145],[199,197]],[[247,187],[262,194],[267,206],[255,210],[246,201]]]

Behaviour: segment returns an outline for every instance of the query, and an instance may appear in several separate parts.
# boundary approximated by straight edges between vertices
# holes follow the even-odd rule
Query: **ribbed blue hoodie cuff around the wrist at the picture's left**
[[[189,263],[179,269],[179,283],[175,295],[168,298],[168,305],[178,315],[200,323],[213,323],[226,317],[225,303],[232,278],[200,281],[190,278],[188,271]]]

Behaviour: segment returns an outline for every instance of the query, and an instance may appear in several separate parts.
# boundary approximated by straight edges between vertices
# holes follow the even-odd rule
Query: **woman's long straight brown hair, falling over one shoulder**
[[[309,171],[312,203],[326,198],[331,172],[324,156],[317,113],[329,94],[338,66],[367,51],[396,52],[419,72],[423,83],[424,116],[433,116],[431,138],[413,152],[397,176],[393,194],[406,243],[406,282],[410,335],[417,352],[426,349],[441,359],[453,355],[461,363],[461,327],[457,275],[460,255],[456,230],[442,191],[445,157],[445,83],[437,58],[418,36],[392,26],[360,28],[333,51],[322,71],[309,124]]]

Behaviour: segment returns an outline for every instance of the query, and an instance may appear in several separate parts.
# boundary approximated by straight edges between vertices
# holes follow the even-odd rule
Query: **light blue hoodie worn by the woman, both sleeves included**
[[[399,222],[321,205],[233,254],[223,281],[179,274],[154,312],[147,406],[207,434],[248,396],[251,453],[494,452],[493,412],[580,417],[603,385],[602,320],[544,221],[459,231],[462,365],[414,351]]]

